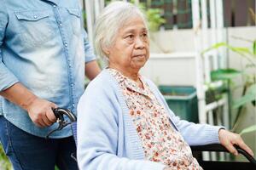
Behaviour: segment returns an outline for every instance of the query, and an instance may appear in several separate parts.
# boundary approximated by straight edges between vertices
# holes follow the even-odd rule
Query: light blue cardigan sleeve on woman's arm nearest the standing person
[[[90,82],[78,106],[78,163],[84,170],[162,170],[165,166],[117,156],[120,108],[108,80]]]

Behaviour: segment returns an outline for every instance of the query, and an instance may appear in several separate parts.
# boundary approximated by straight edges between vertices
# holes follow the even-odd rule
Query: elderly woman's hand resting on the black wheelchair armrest
[[[231,133],[225,129],[220,129],[218,131],[218,139],[220,144],[224,145],[224,147],[230,151],[230,153],[235,156],[238,155],[238,151],[234,147],[234,144],[241,147],[241,149],[246,150],[251,156],[253,156],[253,151],[243,142],[241,136],[236,133]]]

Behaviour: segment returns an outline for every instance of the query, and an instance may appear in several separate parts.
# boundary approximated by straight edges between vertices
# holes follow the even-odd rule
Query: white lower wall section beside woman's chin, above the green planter
[[[195,54],[150,54],[142,74],[158,85],[195,86]]]

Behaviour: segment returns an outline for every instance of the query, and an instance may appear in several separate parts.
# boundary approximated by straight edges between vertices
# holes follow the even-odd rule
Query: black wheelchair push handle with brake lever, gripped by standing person
[[[50,131],[49,133],[47,133],[47,135],[45,137],[46,139],[49,139],[49,136],[52,133],[55,133],[56,131],[61,130],[63,127],[67,127],[67,125],[71,124],[72,122],[77,121],[77,117],[71,111],[69,111],[67,109],[55,108],[55,109],[52,109],[52,111],[55,114],[56,122],[59,123],[59,126],[55,129],[53,129],[52,131]],[[65,117],[67,117],[68,120],[65,120]]]

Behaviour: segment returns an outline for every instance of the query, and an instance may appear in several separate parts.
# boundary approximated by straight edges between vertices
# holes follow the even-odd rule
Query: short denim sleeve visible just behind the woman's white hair
[[[88,35],[85,30],[83,30],[83,37],[84,37],[84,54],[85,54],[85,63],[88,63],[92,60],[96,59],[96,55],[94,54],[94,50],[91,47],[91,44],[88,40]]]

